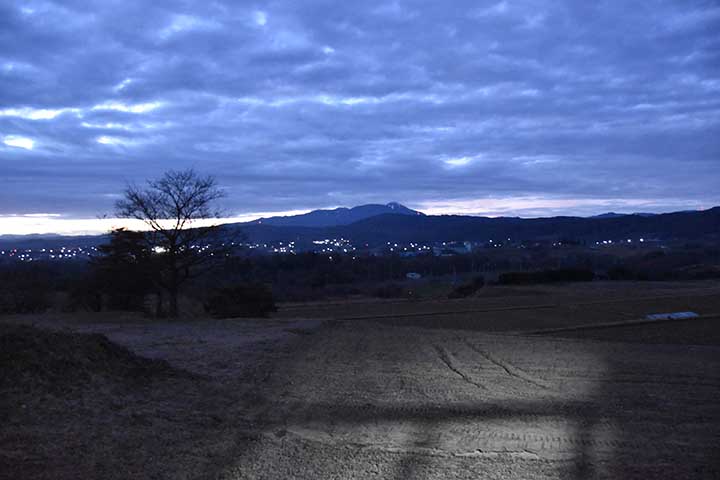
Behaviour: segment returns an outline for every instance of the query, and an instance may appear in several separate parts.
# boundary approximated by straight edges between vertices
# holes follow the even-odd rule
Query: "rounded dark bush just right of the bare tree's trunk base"
[[[207,298],[204,307],[216,318],[267,317],[277,311],[272,290],[258,283],[219,288]]]

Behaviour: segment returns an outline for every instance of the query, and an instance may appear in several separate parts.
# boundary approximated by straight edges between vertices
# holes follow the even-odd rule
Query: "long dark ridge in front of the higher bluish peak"
[[[229,228],[232,226],[228,225]],[[348,225],[292,227],[239,225],[256,242],[295,241],[310,243],[326,238],[346,238],[358,245],[386,242],[438,242],[470,240],[523,241],[574,239],[594,243],[602,240],[646,238],[658,240],[720,240],[720,207],[703,211],[652,216],[621,215],[609,218],[488,218],[461,215],[376,215]]]

